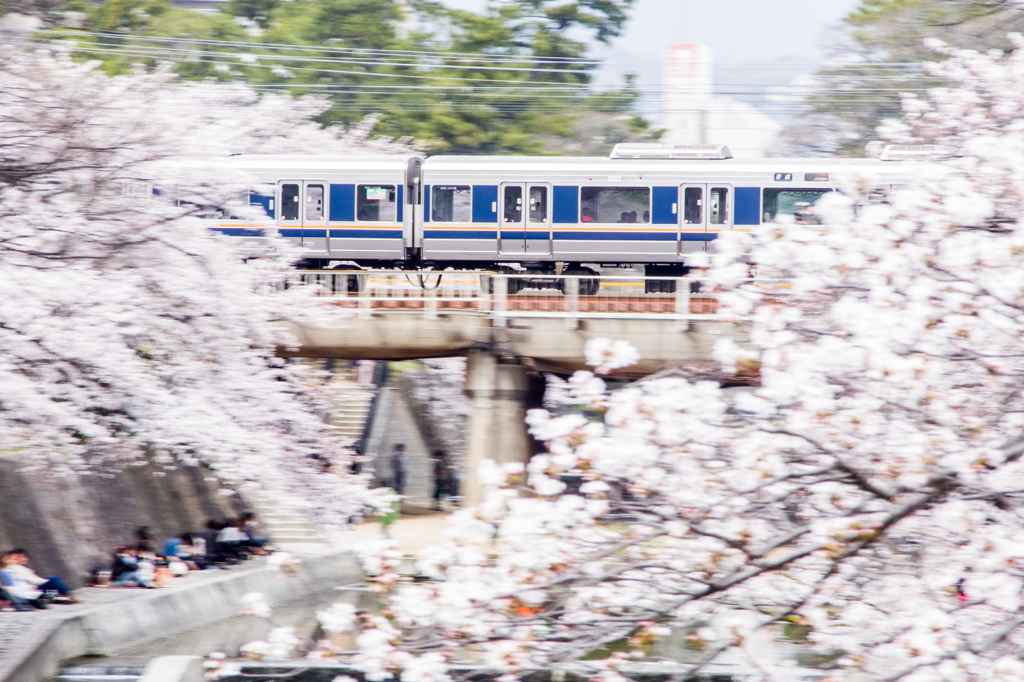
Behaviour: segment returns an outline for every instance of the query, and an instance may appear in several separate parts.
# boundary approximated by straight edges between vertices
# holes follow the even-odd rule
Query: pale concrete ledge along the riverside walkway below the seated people
[[[263,593],[267,603],[275,606],[362,580],[358,563],[347,550],[303,558],[294,578],[266,570],[263,561],[254,563],[200,574],[196,582],[170,588],[138,590],[138,596],[131,599],[54,613],[47,627],[35,630],[12,657],[0,660],[0,680],[40,682],[55,675],[69,658],[109,655],[234,617],[248,592]]]

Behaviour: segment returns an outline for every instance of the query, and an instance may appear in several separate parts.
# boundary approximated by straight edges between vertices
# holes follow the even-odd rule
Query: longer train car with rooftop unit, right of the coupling
[[[723,145],[620,144],[608,158],[432,157],[423,166],[426,263],[647,266],[672,274],[724,230],[779,215],[814,222],[844,173],[881,187],[900,164],[869,159],[732,159]]]

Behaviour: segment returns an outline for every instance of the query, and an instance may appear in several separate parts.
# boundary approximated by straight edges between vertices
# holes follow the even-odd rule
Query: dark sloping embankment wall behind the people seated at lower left
[[[114,548],[133,542],[140,525],[163,542],[248,508],[218,491],[200,467],[96,463],[88,473],[55,476],[0,459],[0,550],[27,549],[37,572],[77,587],[91,567],[108,567]]]

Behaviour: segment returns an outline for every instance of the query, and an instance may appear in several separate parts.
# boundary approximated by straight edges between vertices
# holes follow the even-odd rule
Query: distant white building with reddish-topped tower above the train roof
[[[671,45],[663,69],[663,142],[726,144],[737,159],[760,159],[782,126],[746,102],[716,97],[708,45]]]

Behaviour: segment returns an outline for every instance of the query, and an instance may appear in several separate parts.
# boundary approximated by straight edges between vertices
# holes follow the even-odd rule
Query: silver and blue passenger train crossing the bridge
[[[249,204],[304,249],[303,268],[678,276],[724,231],[781,215],[813,222],[842,175],[867,172],[884,193],[907,180],[892,162],[915,156],[746,160],[722,144],[623,143],[606,158],[242,155],[230,165],[256,178]],[[230,215],[208,226],[267,233]]]

